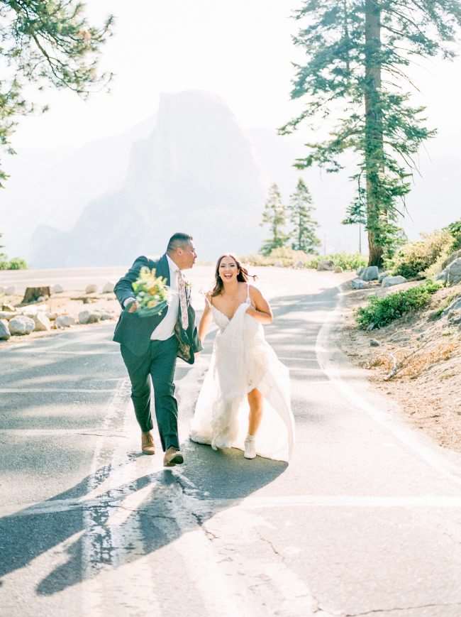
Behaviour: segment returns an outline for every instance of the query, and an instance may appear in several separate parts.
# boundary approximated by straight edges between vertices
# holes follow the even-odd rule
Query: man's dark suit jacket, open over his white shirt
[[[170,266],[168,265],[166,254],[162,255],[160,259],[152,259],[145,256],[138,257],[126,275],[116,283],[114,292],[123,310],[120,317],[118,317],[116,329],[113,333],[113,340],[117,343],[126,345],[136,356],[147,354],[150,344],[150,335],[167,314],[166,311],[163,311],[162,315],[140,317],[137,312],[130,313],[124,309],[123,303],[125,300],[135,295],[132,283],[138,279],[140,269],[143,266],[150,268],[150,270],[155,268],[156,275],[166,278],[167,285],[170,285]],[[195,311],[191,307],[190,290],[188,288],[186,288],[186,301],[189,325],[187,329],[183,329],[181,324],[181,305],[179,303],[178,319],[174,326],[174,334],[178,341],[177,356],[189,364],[194,364],[194,354],[196,351],[201,351],[203,347],[201,346],[199,334],[197,332]]]

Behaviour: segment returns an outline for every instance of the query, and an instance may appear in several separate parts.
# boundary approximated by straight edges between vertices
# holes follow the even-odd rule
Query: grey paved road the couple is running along
[[[177,371],[172,470],[138,452],[111,326],[0,349],[1,616],[460,617],[461,466],[344,363],[337,283],[262,276],[289,466],[187,441],[211,342]]]

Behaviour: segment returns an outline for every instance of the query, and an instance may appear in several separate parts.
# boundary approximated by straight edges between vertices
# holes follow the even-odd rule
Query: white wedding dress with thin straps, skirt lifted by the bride
[[[250,410],[247,394],[257,388],[264,403],[255,438],[256,452],[261,457],[288,462],[294,445],[289,371],[266,342],[262,325],[247,315],[249,305],[249,291],[232,319],[210,305],[218,333],[190,437],[213,449],[243,450]]]

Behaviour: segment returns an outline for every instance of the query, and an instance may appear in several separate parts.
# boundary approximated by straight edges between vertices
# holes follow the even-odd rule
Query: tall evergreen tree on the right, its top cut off
[[[291,98],[306,97],[304,111],[282,127],[289,133],[309,122],[330,122],[323,141],[309,143],[296,160],[336,172],[340,155],[358,154],[355,204],[365,212],[370,265],[380,266],[397,233],[399,203],[410,190],[413,156],[435,131],[425,126],[423,107],[411,107],[402,84],[414,56],[454,55],[461,25],[458,0],[304,0],[295,13],[305,26],[294,37],[306,62],[296,66]],[[357,207],[355,207],[357,211]],[[358,222],[351,214],[348,222]]]

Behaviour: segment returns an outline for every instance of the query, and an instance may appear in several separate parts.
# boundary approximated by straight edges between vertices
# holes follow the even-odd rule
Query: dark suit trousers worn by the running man
[[[166,341],[150,341],[148,352],[142,356],[133,354],[126,345],[121,345],[120,349],[130,376],[131,400],[140,429],[148,432],[153,427],[150,413],[150,380],[152,380],[155,417],[163,451],[172,446],[179,448],[178,405],[174,398],[173,383],[177,338],[173,335]]]

